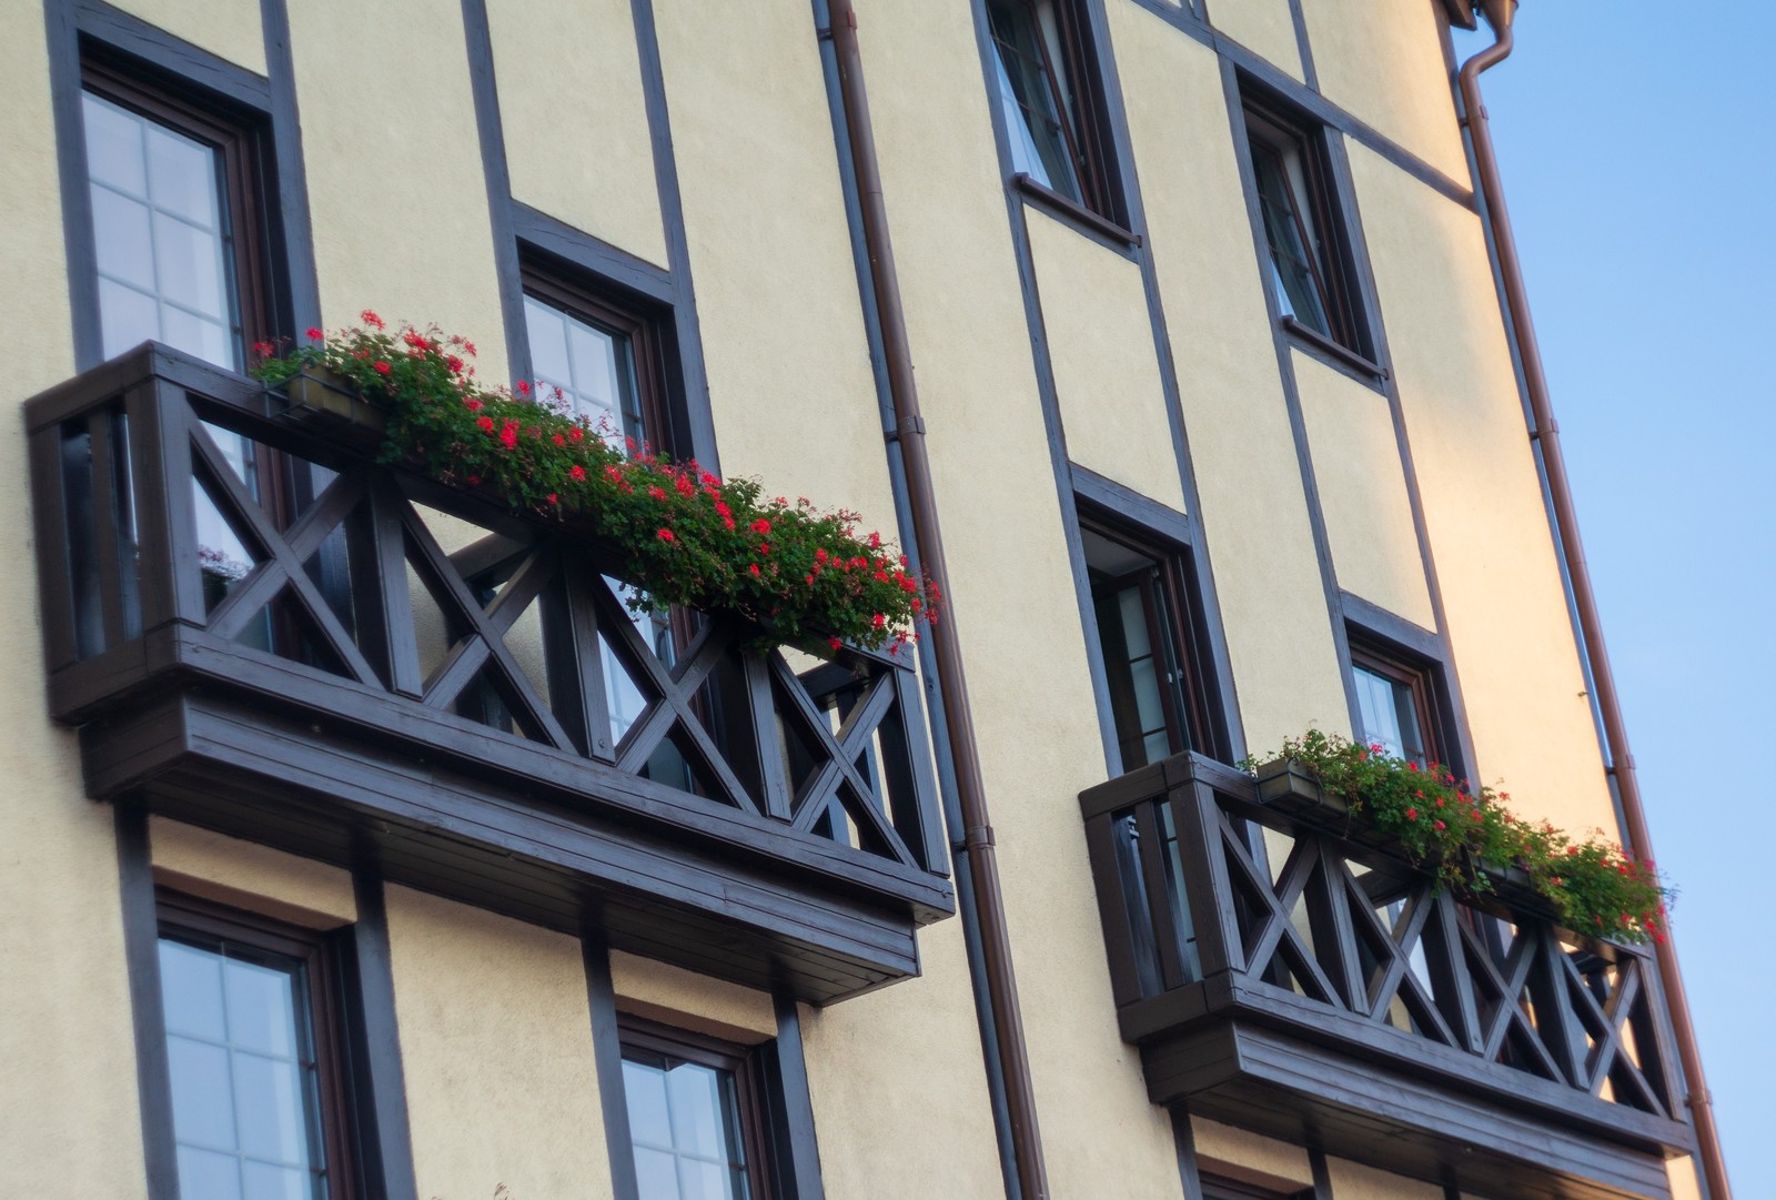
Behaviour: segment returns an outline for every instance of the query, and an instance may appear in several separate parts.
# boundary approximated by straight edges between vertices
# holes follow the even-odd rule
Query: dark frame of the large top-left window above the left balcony
[[[224,256],[229,268],[231,336],[238,339],[240,371],[252,362],[254,343],[275,344],[291,336],[288,304],[279,304],[281,272],[272,252],[270,121],[195,83],[135,59],[94,39],[82,39],[78,92],[92,92],[121,108],[135,112],[163,128],[201,142],[222,160],[222,208],[227,220]],[[82,147],[85,133],[82,130]],[[82,183],[91,188],[85,158],[78,163]],[[87,213],[87,256],[80,264],[94,275],[94,341],[103,346],[103,316],[96,307],[96,217]],[[103,353],[103,350],[101,350]]]

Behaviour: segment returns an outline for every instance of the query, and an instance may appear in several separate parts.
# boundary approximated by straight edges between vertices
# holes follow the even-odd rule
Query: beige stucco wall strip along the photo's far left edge
[[[43,5],[18,5],[0,37],[0,327],[28,348],[0,385],[0,604],[30,614],[0,703],[0,1189],[126,1200],[147,1184],[112,809],[85,799],[75,735],[46,715],[18,415],[75,362]]]

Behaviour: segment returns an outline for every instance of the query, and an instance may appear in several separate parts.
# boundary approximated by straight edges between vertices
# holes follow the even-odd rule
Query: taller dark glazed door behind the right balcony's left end
[[[1103,517],[1082,518],[1080,533],[1122,770],[1188,749],[1215,754],[1183,552]]]

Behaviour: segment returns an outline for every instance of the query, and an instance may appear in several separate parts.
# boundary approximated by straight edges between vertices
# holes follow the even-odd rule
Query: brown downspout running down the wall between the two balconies
[[[851,162],[858,181],[863,241],[870,259],[870,280],[876,291],[877,320],[881,321],[888,391],[893,401],[895,424],[890,437],[900,447],[908,506],[913,518],[913,540],[920,563],[940,595],[947,596],[950,595],[950,579],[943,556],[943,531],[938,522],[938,501],[931,485],[925,419],[920,414],[918,385],[913,380],[913,350],[906,332],[906,309],[900,304],[900,280],[895,272],[893,241],[888,236],[888,206],[883,201],[881,165],[876,160],[876,133],[870,124],[870,101],[863,85],[863,55],[858,50],[858,14],[852,0],[831,0],[828,12],[833,51],[838,59],[838,91],[844,107],[845,133],[851,140]],[[943,724],[955,769],[955,793],[963,813],[963,854],[968,857],[968,888],[979,916],[987,1008],[993,1015],[993,1037],[998,1049],[1005,1113],[1011,1125],[1012,1161],[1018,1172],[1016,1189],[1023,1200],[1048,1200],[1048,1170],[1043,1163],[1043,1138],[1035,1120],[1035,1086],[1030,1079],[1030,1053],[1025,1044],[1023,1017],[1018,1005],[1018,978],[1012,971],[1011,937],[1005,927],[1005,898],[1000,891],[993,820],[987,813],[986,783],[980,772],[980,747],[975,740],[973,710],[968,701],[968,678],[963,671],[963,648],[955,625],[954,616],[947,616],[929,625],[925,637],[931,643],[932,660],[938,669]]]

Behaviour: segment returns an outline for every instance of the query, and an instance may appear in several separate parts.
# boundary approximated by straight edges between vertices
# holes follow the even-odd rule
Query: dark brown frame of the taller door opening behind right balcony
[[[1208,641],[1208,628],[1202,621],[1204,607],[1197,595],[1195,572],[1190,570],[1190,547],[1165,538],[1119,513],[1089,504],[1083,499],[1078,504],[1078,524],[1082,533],[1094,533],[1160,564],[1158,582],[1163,589],[1165,607],[1172,623],[1165,634],[1176,651],[1176,667],[1185,676],[1183,685],[1176,689],[1185,701],[1185,712],[1176,712],[1174,689],[1167,689],[1163,694],[1167,730],[1172,735],[1174,747],[1179,744],[1177,733],[1183,731],[1192,751],[1224,760],[1227,747],[1225,722],[1220,714],[1218,692],[1209,666],[1215,659]],[[1090,573],[1090,568],[1087,570]],[[1096,579],[1090,582],[1094,600],[1092,616],[1096,620],[1098,586]],[[1149,636],[1158,632],[1151,621],[1153,611],[1149,609]],[[1117,742],[1117,753],[1121,754],[1121,737]],[[1172,753],[1177,751],[1174,749]]]

